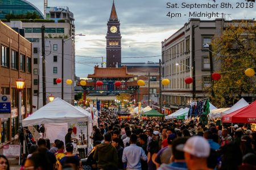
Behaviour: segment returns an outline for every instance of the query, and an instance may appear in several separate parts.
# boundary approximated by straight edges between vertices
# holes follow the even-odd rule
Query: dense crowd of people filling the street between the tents
[[[49,149],[45,139],[31,145],[21,169],[256,169],[256,132],[242,126],[156,118],[120,121],[102,112],[86,159],[73,153],[69,129],[65,141],[56,139]],[[5,156],[0,156],[0,169],[9,169]]]

